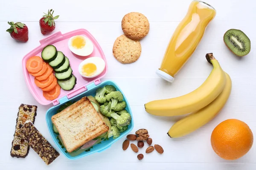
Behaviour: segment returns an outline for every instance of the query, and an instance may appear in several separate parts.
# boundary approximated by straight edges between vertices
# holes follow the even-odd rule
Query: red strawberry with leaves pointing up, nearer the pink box
[[[48,34],[55,29],[54,20],[58,19],[59,15],[53,17],[53,12],[52,9],[50,11],[48,10],[48,14],[44,13],[45,15],[39,20],[41,33],[43,35]]]

